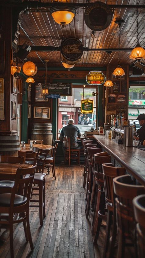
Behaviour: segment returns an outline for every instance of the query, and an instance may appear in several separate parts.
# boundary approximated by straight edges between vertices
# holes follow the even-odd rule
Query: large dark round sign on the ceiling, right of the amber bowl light
[[[103,31],[111,23],[114,10],[102,2],[89,5],[84,13],[84,20],[93,31]]]

